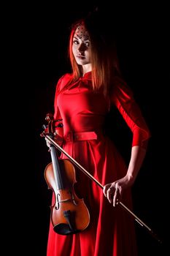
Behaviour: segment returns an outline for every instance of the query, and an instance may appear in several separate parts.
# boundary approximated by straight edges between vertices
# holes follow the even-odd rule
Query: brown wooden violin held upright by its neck
[[[46,120],[48,125],[43,135],[53,138],[55,127],[62,127],[62,124],[55,126],[52,114],[47,114]],[[45,168],[45,180],[48,189],[52,189],[55,195],[55,202],[50,206],[53,230],[61,235],[81,232],[88,227],[90,214],[84,200],[74,192],[77,182],[74,165],[69,159],[59,159],[53,144],[50,144],[50,154],[52,162]]]

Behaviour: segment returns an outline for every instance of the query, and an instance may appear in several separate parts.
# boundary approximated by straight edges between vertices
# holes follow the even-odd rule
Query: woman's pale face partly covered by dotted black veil
[[[74,33],[72,52],[79,65],[90,64],[90,39],[85,26],[80,25]]]

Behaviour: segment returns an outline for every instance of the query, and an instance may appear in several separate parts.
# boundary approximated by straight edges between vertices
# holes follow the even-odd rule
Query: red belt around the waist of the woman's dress
[[[98,135],[96,132],[68,132],[63,136],[66,142],[77,140],[97,140]]]

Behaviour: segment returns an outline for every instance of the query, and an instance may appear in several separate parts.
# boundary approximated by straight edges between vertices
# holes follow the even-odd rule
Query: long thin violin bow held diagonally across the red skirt
[[[91,180],[93,180],[99,187],[101,187],[101,189],[104,189],[104,186],[101,185],[101,183],[96,180],[96,178],[94,178],[90,173],[88,173],[87,170],[85,170],[84,167],[82,167],[82,165],[80,165],[74,158],[72,158],[68,153],[66,153],[66,151],[63,150],[63,148],[61,148],[61,146],[58,145],[58,143],[55,142],[55,140],[53,140],[52,138],[50,138],[49,135],[46,135],[45,132],[42,132],[42,135],[47,138],[48,140],[50,140],[50,142],[53,144],[53,146],[55,146],[56,148],[58,148],[59,151],[61,151],[63,154],[66,155],[66,157],[68,157],[70,159],[71,162],[74,163],[74,165],[76,165],[80,170],[82,170],[83,173],[85,173],[86,176],[88,176],[88,178],[90,178]],[[131,215],[131,217],[134,217],[134,219],[136,220],[136,222],[139,223],[139,225],[141,225],[142,227],[144,227],[149,233],[150,235],[155,238],[160,244],[162,244],[162,241],[160,238],[158,238],[158,235],[156,233],[154,233],[152,231],[152,229],[150,227],[148,227],[148,225],[146,225],[144,222],[142,222],[141,219],[139,219],[139,217],[136,216],[136,214],[134,214],[127,206],[125,206],[122,202],[118,203],[118,206],[120,206],[121,208],[123,208],[128,214]]]

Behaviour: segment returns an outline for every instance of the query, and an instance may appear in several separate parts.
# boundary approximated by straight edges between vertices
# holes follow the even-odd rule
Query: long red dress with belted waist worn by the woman
[[[125,175],[127,167],[112,140],[103,134],[110,105],[118,108],[133,132],[132,146],[145,147],[150,131],[131,90],[120,78],[115,78],[109,98],[101,91],[93,92],[90,72],[61,91],[70,78],[63,75],[55,93],[54,118],[63,119],[63,149],[102,185],[115,181]],[[134,219],[122,208],[114,208],[81,170],[76,179],[90,212],[90,224],[81,233],[63,236],[55,233],[50,223],[47,256],[136,256]],[[122,202],[132,207],[130,189],[124,192]]]

